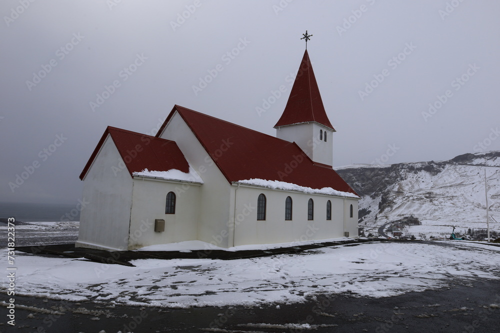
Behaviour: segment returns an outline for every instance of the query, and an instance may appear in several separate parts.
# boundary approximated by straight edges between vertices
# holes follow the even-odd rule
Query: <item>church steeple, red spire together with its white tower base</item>
[[[307,49],[283,114],[274,128],[276,137],[295,142],[316,164],[333,165],[331,134],[335,129],[326,116]]]

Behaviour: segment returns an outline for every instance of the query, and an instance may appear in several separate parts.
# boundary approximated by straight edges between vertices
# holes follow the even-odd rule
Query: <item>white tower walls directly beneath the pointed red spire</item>
[[[319,131],[327,132],[326,142],[319,140]],[[316,123],[304,123],[284,126],[276,129],[276,137],[289,142],[295,142],[314,162],[332,165],[333,162],[333,131]]]

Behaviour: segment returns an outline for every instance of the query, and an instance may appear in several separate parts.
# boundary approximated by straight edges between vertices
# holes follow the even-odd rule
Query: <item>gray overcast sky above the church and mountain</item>
[[[0,201],[76,203],[106,126],[151,134],[174,104],[274,135],[306,29],[334,166],[498,150],[498,12],[496,0],[2,0]]]

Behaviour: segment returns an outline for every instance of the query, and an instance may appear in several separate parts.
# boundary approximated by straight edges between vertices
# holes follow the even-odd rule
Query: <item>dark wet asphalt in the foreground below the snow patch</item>
[[[35,241],[25,236],[26,241]],[[60,240],[68,242],[70,239],[61,235]],[[51,243],[57,243],[57,240],[52,237]],[[439,244],[447,246],[445,242]],[[0,299],[5,298],[2,292]],[[98,333],[101,330],[106,333],[500,331],[500,309],[489,308],[490,304],[500,305],[500,281],[497,280],[470,283],[457,279],[449,288],[380,299],[345,294],[318,295],[316,299],[309,298],[300,304],[280,304],[279,309],[277,304],[252,308],[110,308],[106,303],[73,303],[30,297],[16,297],[15,304],[14,328],[6,323],[7,309],[1,308],[2,333]],[[274,326],[262,328],[252,324]]]

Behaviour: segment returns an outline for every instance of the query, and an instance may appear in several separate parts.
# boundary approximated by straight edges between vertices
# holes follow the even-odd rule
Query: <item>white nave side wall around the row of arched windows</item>
[[[356,230],[357,219],[344,218],[344,199],[294,191],[233,186],[236,194],[234,245],[267,244],[343,237],[344,225]],[[266,219],[257,221],[257,197],[266,196]],[[292,220],[284,218],[285,199],[292,199]],[[307,220],[307,203],[314,201],[314,219]],[[331,201],[331,220],[326,220],[326,202]],[[357,202],[357,200],[349,200]],[[357,206],[356,206],[357,207]],[[355,211],[357,216],[357,211]],[[352,225],[349,225],[352,224]],[[354,234],[352,234],[354,235]]]

